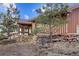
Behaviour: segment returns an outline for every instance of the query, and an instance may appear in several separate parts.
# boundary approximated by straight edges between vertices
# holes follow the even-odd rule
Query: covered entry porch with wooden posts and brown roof
[[[28,35],[32,33],[36,26],[33,21],[18,21],[17,24],[19,25],[19,33],[28,33]]]

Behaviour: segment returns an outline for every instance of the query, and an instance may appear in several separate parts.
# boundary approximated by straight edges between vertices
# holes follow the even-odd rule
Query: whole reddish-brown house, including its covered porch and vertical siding
[[[68,33],[77,33],[79,34],[79,5],[72,7],[71,12],[67,17],[67,23],[63,26],[59,26],[54,28],[54,34],[68,34]],[[27,32],[30,34],[32,30],[35,29],[36,23],[33,21],[19,21],[19,31],[21,33]],[[44,30],[45,32],[49,32],[48,29]]]

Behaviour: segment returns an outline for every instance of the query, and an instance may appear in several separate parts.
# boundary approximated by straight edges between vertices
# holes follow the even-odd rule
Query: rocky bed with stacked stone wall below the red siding
[[[39,55],[55,56],[77,56],[79,55],[79,36],[78,35],[54,35],[51,42],[49,36],[39,36],[38,46]]]

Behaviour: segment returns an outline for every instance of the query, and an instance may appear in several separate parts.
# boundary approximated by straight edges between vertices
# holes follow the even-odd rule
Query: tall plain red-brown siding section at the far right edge
[[[79,25],[79,8],[71,11],[68,22],[68,33],[76,33],[76,27]]]

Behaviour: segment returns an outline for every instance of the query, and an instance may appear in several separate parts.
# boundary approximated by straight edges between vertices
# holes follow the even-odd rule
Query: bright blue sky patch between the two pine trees
[[[16,3],[16,7],[20,11],[21,19],[31,19],[37,16],[34,9],[41,7],[40,3]]]

